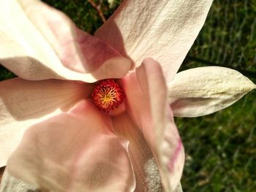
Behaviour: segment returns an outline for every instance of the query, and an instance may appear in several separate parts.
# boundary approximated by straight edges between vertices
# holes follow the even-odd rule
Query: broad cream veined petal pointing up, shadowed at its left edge
[[[202,28],[211,2],[124,0],[95,36],[128,55],[136,66],[143,58],[154,58],[170,82]]]

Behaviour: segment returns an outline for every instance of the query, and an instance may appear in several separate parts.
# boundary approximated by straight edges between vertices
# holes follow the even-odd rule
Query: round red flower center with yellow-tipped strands
[[[91,93],[94,104],[104,112],[114,110],[124,99],[124,91],[112,79],[100,82]]]

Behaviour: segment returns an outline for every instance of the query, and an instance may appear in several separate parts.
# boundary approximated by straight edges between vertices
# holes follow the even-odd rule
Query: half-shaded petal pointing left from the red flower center
[[[70,81],[15,78],[0,82],[0,166],[6,165],[26,128],[68,111],[90,93],[91,85]]]

